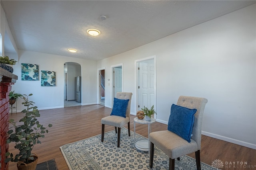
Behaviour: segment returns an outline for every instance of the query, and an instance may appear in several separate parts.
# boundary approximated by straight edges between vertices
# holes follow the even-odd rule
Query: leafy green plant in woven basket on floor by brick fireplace
[[[6,152],[5,162],[17,162],[18,170],[36,169],[38,156],[32,153],[32,149],[34,145],[41,143],[39,138],[43,138],[44,133],[48,133],[47,128],[52,127],[52,124],[44,127],[39,123],[37,117],[40,117],[40,114],[37,106],[33,106],[34,102],[29,101],[28,96],[32,96],[32,94],[24,95],[24,102],[22,102],[26,106],[26,109],[22,111],[22,113],[25,113],[24,117],[19,122],[10,119],[9,122],[12,127],[7,132],[9,135],[7,143],[14,142],[14,148],[18,149],[19,153],[14,156],[13,153]]]

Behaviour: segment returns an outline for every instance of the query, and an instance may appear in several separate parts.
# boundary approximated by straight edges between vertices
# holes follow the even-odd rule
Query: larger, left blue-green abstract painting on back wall
[[[21,63],[21,80],[39,80],[38,64]]]

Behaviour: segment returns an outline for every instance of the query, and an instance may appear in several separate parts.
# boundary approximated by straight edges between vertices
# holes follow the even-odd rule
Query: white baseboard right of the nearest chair
[[[241,145],[241,146],[244,146],[244,147],[248,147],[248,148],[251,148],[251,149],[256,149],[256,145],[253,144],[253,143],[248,143],[248,142],[240,141],[240,140],[229,138],[229,137],[224,137],[224,136],[221,136],[221,135],[216,135],[214,133],[209,133],[209,132],[205,132],[205,131],[202,131],[202,135],[206,135],[208,137],[213,137],[213,138],[216,138],[216,139],[220,139],[222,141],[227,141],[227,142],[234,143],[234,144],[237,144],[237,145]]]

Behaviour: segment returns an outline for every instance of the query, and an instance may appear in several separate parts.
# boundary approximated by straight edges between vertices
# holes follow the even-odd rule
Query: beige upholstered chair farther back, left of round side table
[[[117,115],[110,115],[108,117],[104,117],[101,119],[102,124],[102,132],[101,132],[101,141],[104,141],[104,128],[105,125],[114,126],[116,133],[117,133],[117,147],[120,147],[120,133],[121,133],[121,127],[123,127],[126,123],[128,123],[128,134],[130,134],[130,108],[131,108],[131,100],[132,100],[132,93],[128,92],[117,92],[116,98],[121,100],[127,100],[129,99],[127,108],[126,108],[126,118],[122,116]],[[118,131],[116,129],[118,127]]]

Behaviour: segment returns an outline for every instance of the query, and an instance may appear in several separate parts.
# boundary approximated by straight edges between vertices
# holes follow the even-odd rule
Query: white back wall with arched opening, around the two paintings
[[[82,70],[82,105],[97,103],[97,66],[96,61],[76,59],[59,55],[50,55],[32,51],[19,51],[20,60],[14,65],[14,74],[18,80],[12,90],[21,94],[30,94],[39,109],[64,107],[64,63],[74,62],[81,64]],[[21,80],[21,63],[39,64],[39,81]],[[41,70],[56,71],[56,86],[41,86]],[[18,111],[24,109],[22,100],[18,100]]]

